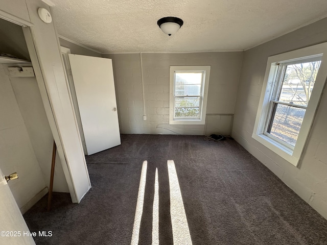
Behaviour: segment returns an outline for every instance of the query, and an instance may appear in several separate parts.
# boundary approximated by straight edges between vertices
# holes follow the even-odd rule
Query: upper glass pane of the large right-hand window
[[[286,66],[277,100],[307,106],[320,63],[321,61],[312,61]]]

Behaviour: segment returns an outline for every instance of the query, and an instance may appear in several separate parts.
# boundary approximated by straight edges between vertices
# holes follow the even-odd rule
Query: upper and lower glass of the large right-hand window
[[[320,67],[320,60],[280,64],[281,79],[276,78],[275,95],[266,133],[295,146],[312,89]],[[282,102],[283,104],[279,104]],[[285,103],[285,104],[284,104]]]

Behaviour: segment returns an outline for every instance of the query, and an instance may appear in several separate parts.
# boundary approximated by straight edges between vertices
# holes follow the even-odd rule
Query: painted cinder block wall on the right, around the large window
[[[327,18],[244,52],[232,136],[278,178],[327,218],[327,90],[324,89],[298,167],[252,139],[269,56],[327,41]]]

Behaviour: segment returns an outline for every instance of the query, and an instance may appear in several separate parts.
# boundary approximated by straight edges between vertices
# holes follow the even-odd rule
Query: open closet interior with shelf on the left
[[[18,173],[8,185],[23,214],[48,193],[54,142],[49,99],[48,109],[44,104],[48,95],[34,72],[39,64],[30,61],[30,32],[0,18],[0,169],[5,175]],[[53,191],[69,192],[58,155]]]

